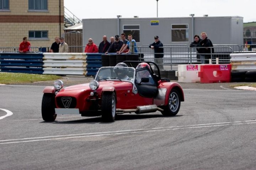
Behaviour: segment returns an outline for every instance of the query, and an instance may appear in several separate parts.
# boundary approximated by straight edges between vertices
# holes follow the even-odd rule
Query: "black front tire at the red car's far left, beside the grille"
[[[55,95],[52,93],[44,93],[42,99],[42,118],[44,121],[54,121],[55,114]]]

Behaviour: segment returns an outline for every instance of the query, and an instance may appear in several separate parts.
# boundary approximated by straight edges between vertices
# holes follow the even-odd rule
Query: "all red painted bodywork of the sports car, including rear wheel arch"
[[[96,90],[96,94],[91,96],[90,93],[93,90],[90,89],[89,83],[73,85],[61,89],[55,97],[55,104],[58,106],[57,97],[74,97],[76,99],[75,108],[79,108],[80,112],[90,111],[92,104],[98,104],[101,106],[101,96],[104,92],[114,91],[116,93],[116,108],[119,109],[135,109],[137,106],[145,106],[156,104],[157,106],[167,105],[169,100],[169,94],[172,89],[176,89],[180,92],[181,101],[184,101],[184,94],[181,86],[175,82],[162,82],[158,81],[158,89],[166,89],[165,95],[158,99],[146,98],[139,95],[139,93],[134,94],[133,84],[128,81],[98,81],[99,88]],[[45,87],[44,93],[54,93],[55,89],[53,86]],[[98,100],[100,99],[100,100]]]

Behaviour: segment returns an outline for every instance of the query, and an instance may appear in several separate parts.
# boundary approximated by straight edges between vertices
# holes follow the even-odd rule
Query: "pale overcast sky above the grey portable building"
[[[157,12],[158,4],[158,12]],[[64,0],[79,19],[240,16],[256,22],[256,0]]]

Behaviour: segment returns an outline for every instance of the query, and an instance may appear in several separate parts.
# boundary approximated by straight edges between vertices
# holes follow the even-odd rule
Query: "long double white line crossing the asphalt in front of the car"
[[[247,120],[247,121],[235,121],[235,122],[224,122],[224,123],[209,123],[209,124],[198,124],[198,125],[170,126],[170,127],[162,127],[162,128],[134,129],[134,130],[121,130],[121,131],[108,131],[108,132],[93,132],[93,133],[85,133],[85,134],[70,134],[70,135],[58,135],[58,136],[43,136],[43,137],[31,137],[31,138],[0,140],[0,144],[24,143],[24,142],[36,142],[36,141],[48,141],[48,140],[61,140],[61,139],[70,139],[70,138],[96,137],[96,136],[108,136],[108,135],[123,135],[123,134],[135,134],[135,133],[143,133],[143,132],[192,129],[192,128],[209,128],[209,127],[218,127],[218,126],[243,125],[243,124],[255,124],[255,123],[256,123],[256,120]]]

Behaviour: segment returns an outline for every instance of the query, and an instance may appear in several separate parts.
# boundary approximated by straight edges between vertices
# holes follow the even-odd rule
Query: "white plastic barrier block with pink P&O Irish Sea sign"
[[[200,82],[198,72],[200,71],[200,65],[202,64],[180,64],[178,65],[178,71],[175,72],[180,83],[196,83]]]

